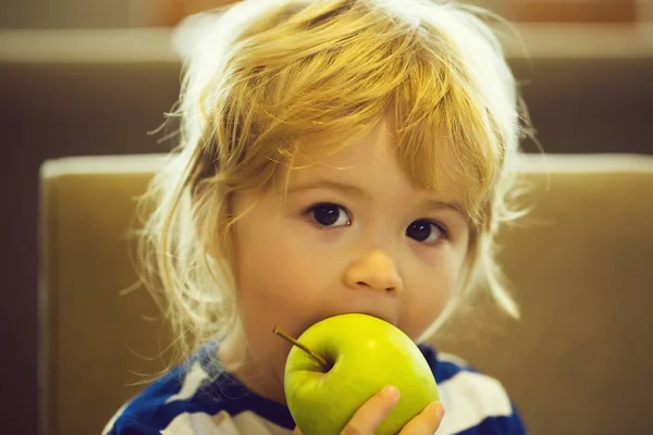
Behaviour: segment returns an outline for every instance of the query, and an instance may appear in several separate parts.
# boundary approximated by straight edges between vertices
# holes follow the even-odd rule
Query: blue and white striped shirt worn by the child
[[[525,434],[498,381],[465,361],[420,345],[446,410],[438,435]],[[211,381],[213,348],[198,352],[118,411],[103,435],[289,435],[288,408],[249,391],[227,373]]]

